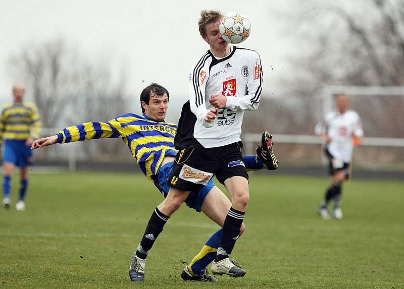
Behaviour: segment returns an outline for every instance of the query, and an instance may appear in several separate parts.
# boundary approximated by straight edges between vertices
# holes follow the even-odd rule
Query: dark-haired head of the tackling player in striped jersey
[[[166,118],[170,94],[163,86],[152,83],[140,93],[142,112],[152,120],[162,122]]]

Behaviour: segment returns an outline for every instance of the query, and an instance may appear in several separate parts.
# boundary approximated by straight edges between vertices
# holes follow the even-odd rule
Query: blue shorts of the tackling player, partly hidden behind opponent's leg
[[[170,187],[167,185],[168,176],[170,176],[170,172],[173,169],[174,162],[168,162],[163,165],[159,170],[159,184],[161,189],[168,194]],[[215,186],[215,183],[210,180],[209,183],[200,189],[199,191],[191,191],[188,197],[185,199],[185,203],[188,207],[195,209],[197,212],[200,212],[200,207],[204,203],[206,196],[209,191]]]

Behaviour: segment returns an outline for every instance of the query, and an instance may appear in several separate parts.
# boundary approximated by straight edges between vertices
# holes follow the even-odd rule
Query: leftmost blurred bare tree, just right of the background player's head
[[[53,127],[78,94],[77,55],[62,39],[28,45],[10,59],[10,68],[32,93],[44,127]]]

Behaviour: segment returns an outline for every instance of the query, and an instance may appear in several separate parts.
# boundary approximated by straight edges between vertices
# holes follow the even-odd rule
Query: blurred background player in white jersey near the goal
[[[328,112],[316,126],[316,134],[325,141],[325,153],[329,159],[331,186],[327,189],[318,213],[329,219],[328,203],[333,199],[333,216],[342,218],[340,208],[341,187],[349,178],[349,166],[354,145],[362,143],[363,129],[361,119],[354,110],[348,110],[349,99],[346,94],[336,96],[336,111]]]

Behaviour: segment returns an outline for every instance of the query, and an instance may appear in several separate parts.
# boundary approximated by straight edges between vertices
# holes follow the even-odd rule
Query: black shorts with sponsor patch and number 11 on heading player
[[[216,175],[220,183],[248,174],[242,161],[241,142],[214,148],[188,148],[178,151],[168,186],[182,191],[200,190]]]

